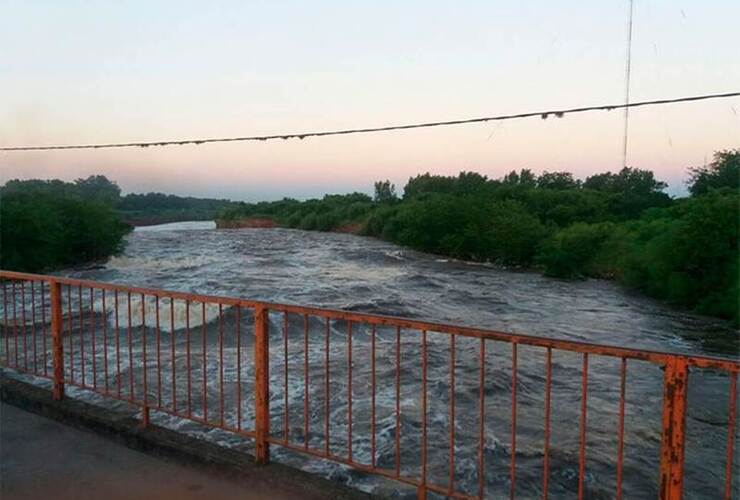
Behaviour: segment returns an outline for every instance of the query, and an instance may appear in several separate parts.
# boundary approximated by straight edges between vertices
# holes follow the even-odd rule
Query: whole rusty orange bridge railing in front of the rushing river
[[[420,498],[494,490],[513,498],[518,487],[531,496],[535,485],[548,498],[554,468],[572,466],[574,481],[559,488],[585,498],[597,487],[587,467],[591,430],[599,446],[613,445],[598,467],[622,498],[625,475],[638,474],[625,469],[625,424],[641,404],[628,410],[628,364],[645,364],[662,370],[638,381],[659,392],[651,400],[656,495],[676,499],[684,490],[691,369],[726,379],[722,496],[737,487],[734,359],[60,276],[0,271],[0,280],[2,366],[50,379],[57,399],[71,385],[136,405],[143,425],[156,411],[246,436],[259,463],[278,445],[410,485]],[[568,404],[553,404],[555,393]],[[603,421],[613,426],[603,430]],[[575,424],[577,438],[563,434]],[[541,427],[537,467],[532,427]],[[612,439],[601,444],[606,431]],[[561,440],[572,442],[572,455]]]

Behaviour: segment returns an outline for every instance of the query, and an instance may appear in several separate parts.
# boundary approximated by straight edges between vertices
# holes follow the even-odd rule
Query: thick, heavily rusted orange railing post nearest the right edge
[[[686,394],[689,381],[686,358],[672,357],[666,363],[663,380],[660,500],[680,500],[683,497]]]

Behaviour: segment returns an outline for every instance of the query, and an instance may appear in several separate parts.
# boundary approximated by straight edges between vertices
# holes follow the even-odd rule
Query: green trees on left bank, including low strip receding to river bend
[[[11,180],[0,187],[0,266],[42,272],[123,250],[133,225],[213,220],[228,200],[162,193],[121,195],[102,175],[74,182]]]

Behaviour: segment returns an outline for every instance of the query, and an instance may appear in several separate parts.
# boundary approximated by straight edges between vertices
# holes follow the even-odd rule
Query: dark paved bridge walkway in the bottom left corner
[[[0,498],[290,500],[305,496],[291,485],[281,490],[274,484],[240,481],[205,467],[151,456],[3,403]]]

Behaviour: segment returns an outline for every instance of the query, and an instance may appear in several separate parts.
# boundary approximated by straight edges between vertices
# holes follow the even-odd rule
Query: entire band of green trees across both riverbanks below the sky
[[[584,180],[527,169],[389,181],[374,196],[235,203],[161,193],[121,196],[104,176],[12,180],[0,187],[0,266],[40,272],[123,249],[126,221],[268,218],[306,230],[358,232],[458,259],[598,277],[703,314],[738,318],[740,150],[689,169],[690,196],[671,198],[653,172],[623,168]]]

